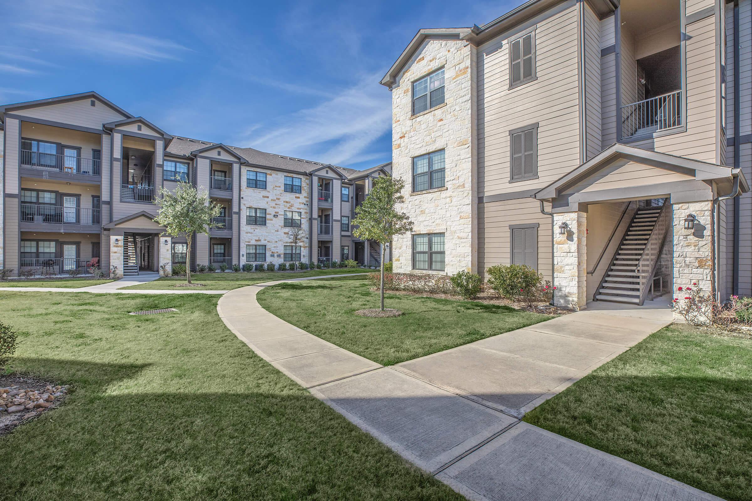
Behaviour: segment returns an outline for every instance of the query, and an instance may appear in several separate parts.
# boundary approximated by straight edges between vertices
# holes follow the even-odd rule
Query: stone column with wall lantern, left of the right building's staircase
[[[559,225],[569,225],[559,234]],[[553,303],[571,309],[584,309],[587,303],[587,214],[553,215]]]

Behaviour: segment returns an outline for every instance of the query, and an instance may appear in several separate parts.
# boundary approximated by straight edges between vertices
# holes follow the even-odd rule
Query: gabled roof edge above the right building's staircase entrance
[[[592,176],[602,168],[623,158],[629,161],[636,161],[640,164],[650,165],[656,168],[666,169],[668,171],[678,172],[687,176],[693,176],[696,180],[717,180],[719,178],[729,178],[737,174],[739,169],[724,167],[723,165],[710,164],[705,161],[692,160],[668,153],[654,152],[648,149],[635,148],[622,143],[614,143],[604,149],[598,155],[581,164],[574,171],[559,177],[550,185],[541,189],[533,195],[538,200],[548,200],[556,198],[559,193],[578,183],[587,177]],[[747,181],[741,176],[742,192],[749,190]]]

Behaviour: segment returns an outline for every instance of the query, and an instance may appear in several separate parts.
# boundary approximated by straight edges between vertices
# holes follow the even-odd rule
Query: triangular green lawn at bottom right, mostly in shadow
[[[752,499],[752,340],[672,325],[525,421],[725,499]]]

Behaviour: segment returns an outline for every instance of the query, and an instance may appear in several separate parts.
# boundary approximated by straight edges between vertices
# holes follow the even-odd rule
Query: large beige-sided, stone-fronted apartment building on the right
[[[396,271],[526,264],[554,301],[752,294],[750,0],[530,0],[420,29],[381,84]]]

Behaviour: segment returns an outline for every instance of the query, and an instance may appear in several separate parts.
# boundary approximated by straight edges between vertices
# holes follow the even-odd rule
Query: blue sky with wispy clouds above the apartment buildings
[[[520,3],[2,2],[0,102],[95,90],[171,134],[367,168],[391,159],[378,81],[415,32]]]

